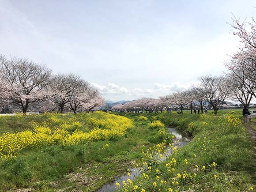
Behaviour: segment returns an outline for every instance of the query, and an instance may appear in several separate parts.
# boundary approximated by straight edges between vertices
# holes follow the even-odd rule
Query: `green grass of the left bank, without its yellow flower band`
[[[85,114],[86,115],[86,114]],[[90,128],[87,120],[80,116],[58,116],[62,120],[75,118]],[[151,147],[162,142],[157,129],[149,129],[149,120],[135,121],[135,127],[119,139],[87,142],[72,146],[49,146],[29,148],[19,152],[16,158],[0,160],[0,191],[33,188],[36,191],[58,189],[91,192],[115,178],[132,166],[134,160],[142,158],[142,146]],[[33,124],[49,124],[49,115],[0,117],[1,132],[20,132],[33,128]],[[105,144],[109,147],[103,149]]]

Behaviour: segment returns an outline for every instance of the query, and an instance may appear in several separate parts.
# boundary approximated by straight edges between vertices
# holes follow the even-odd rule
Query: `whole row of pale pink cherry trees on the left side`
[[[104,105],[98,90],[75,74],[53,75],[45,65],[23,58],[0,56],[0,106],[29,106],[41,111],[90,111]]]

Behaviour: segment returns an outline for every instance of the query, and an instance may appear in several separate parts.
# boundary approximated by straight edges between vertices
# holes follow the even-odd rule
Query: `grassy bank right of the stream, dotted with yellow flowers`
[[[166,162],[151,166],[132,184],[126,181],[120,191],[247,192],[255,188],[256,155],[249,133],[241,124],[240,111],[219,111],[217,116],[188,112],[120,115],[158,119],[193,136]]]

